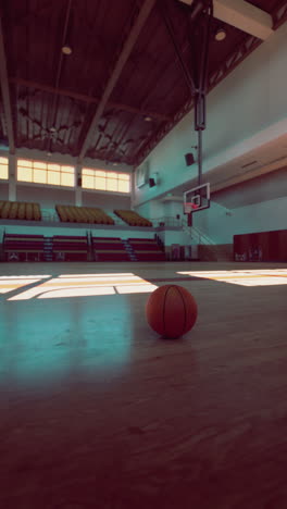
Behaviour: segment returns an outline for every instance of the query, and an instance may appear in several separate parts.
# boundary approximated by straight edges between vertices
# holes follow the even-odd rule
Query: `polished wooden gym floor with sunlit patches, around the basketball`
[[[145,320],[166,283],[177,340]],[[2,263],[0,291],[2,509],[286,509],[287,264]]]

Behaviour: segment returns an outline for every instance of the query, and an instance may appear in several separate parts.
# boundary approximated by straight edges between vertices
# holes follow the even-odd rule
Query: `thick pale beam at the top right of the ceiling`
[[[179,1],[191,5],[195,0]],[[213,16],[261,40],[273,33],[271,14],[246,0],[213,0]]]

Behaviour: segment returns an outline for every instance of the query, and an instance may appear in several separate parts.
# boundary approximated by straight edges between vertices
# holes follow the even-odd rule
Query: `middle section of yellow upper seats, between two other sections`
[[[114,224],[102,209],[57,204],[55,210],[63,223]]]

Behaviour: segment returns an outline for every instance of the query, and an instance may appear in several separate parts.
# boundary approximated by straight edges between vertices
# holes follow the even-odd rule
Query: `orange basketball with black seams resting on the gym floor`
[[[196,323],[197,302],[183,286],[164,285],[157,288],[146,305],[146,316],[153,331],[164,337],[186,334]]]

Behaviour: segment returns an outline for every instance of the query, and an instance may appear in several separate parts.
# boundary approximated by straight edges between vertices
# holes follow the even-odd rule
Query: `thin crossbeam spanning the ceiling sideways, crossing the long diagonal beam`
[[[27,88],[47,91],[49,94],[57,94],[59,96],[70,97],[71,99],[76,99],[78,101],[87,102],[89,104],[98,104],[100,102],[100,99],[98,97],[86,96],[85,94],[65,90],[64,88],[52,87],[50,85],[45,85],[43,83],[32,82],[29,79],[10,77],[9,82],[15,85],[22,85]],[[154,111],[148,111],[145,109],[142,110],[141,108],[134,108],[128,104],[122,104],[121,102],[108,101],[107,107],[113,108],[115,110],[128,111],[130,113],[139,114],[142,116],[151,116],[151,119],[158,120],[160,122],[166,122],[171,120],[171,116],[164,115],[162,113],[157,113]]]

